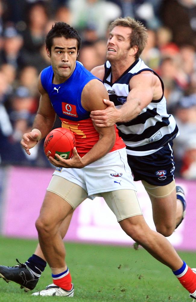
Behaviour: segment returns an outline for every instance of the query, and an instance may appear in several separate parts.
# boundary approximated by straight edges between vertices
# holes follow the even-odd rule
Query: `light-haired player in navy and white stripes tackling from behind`
[[[184,191],[174,180],[172,140],[179,131],[166,110],[163,81],[139,58],[146,42],[141,22],[127,17],[110,24],[107,61],[91,71],[103,80],[110,101],[90,116],[97,127],[117,125],[134,180],[149,194],[156,230],[170,236],[186,208]]]

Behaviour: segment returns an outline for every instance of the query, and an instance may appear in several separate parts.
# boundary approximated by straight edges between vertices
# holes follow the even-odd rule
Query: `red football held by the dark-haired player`
[[[75,145],[73,132],[65,128],[56,128],[46,136],[44,152],[47,157],[52,156],[54,159],[57,159],[55,154],[60,155],[63,159],[69,159]]]

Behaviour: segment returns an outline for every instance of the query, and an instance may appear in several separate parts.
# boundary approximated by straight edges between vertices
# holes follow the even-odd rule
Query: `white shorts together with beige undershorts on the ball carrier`
[[[56,168],[47,191],[67,201],[73,209],[89,195],[102,196],[117,221],[142,215],[125,149],[108,153],[82,168]]]

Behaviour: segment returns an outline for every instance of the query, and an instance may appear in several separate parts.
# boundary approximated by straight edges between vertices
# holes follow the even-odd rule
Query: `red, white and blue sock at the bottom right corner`
[[[177,271],[173,271],[174,275],[178,278],[184,288],[189,293],[194,293],[196,290],[196,274],[191,268],[183,261],[183,265]]]

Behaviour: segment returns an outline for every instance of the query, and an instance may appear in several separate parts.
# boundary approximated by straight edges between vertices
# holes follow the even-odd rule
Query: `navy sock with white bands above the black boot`
[[[40,278],[41,273],[46,267],[46,261],[39,256],[33,254],[26,262],[27,268],[35,276],[35,278]]]

